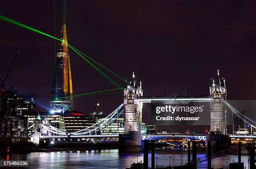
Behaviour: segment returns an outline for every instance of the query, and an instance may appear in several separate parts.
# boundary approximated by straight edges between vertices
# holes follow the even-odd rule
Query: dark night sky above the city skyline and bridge
[[[210,78],[226,79],[228,99],[256,99],[256,1],[68,0],[68,42],[130,81],[134,71],[145,96],[207,95]],[[56,36],[63,23],[63,0],[56,0]],[[54,35],[53,1],[3,1],[0,14]],[[20,50],[6,86],[19,93],[49,96],[54,75],[54,40],[0,20],[0,75]],[[74,94],[115,88],[69,50]],[[114,81],[123,82],[107,73]],[[75,98],[75,109],[89,114],[96,96]],[[100,96],[98,96],[100,100]],[[103,95],[109,114],[121,93]],[[49,98],[37,98],[37,110]],[[148,119],[145,108],[144,119]]]

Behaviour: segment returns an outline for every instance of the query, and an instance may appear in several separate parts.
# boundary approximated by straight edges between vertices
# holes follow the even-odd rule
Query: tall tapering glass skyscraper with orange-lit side
[[[74,109],[71,66],[68,53],[66,25],[61,28],[61,42],[56,53],[56,68],[51,89],[51,111]],[[64,98],[66,97],[66,98]],[[66,108],[67,107],[67,108]]]

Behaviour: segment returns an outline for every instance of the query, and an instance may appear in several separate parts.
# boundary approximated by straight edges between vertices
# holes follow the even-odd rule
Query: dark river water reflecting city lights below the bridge
[[[242,151],[242,153],[246,153],[246,151]],[[169,165],[169,156],[171,156],[171,164],[181,163],[181,161],[185,163],[187,161],[186,150],[159,150],[155,154],[155,157],[158,157],[157,164]],[[205,154],[197,154],[197,157],[201,156],[205,156]],[[137,162],[137,154],[118,154],[118,149],[106,149],[10,154],[7,156],[1,155],[0,159],[28,160],[29,167],[27,168],[31,169],[125,169],[125,167],[130,167],[133,162]],[[212,164],[228,164],[233,160],[237,162],[238,157],[236,154],[212,159]],[[138,154],[138,161],[143,161],[143,154]],[[148,154],[148,161],[149,166],[151,166],[151,154]],[[246,154],[242,155],[241,162],[244,162],[246,169],[248,169],[248,157]],[[207,161],[203,162],[203,164],[207,164]]]

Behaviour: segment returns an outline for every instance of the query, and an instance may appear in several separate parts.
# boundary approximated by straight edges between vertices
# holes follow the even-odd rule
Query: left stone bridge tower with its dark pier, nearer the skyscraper
[[[138,96],[143,95],[142,84],[138,87],[133,72],[130,83],[125,81],[123,89],[124,103],[124,134],[119,136],[121,151],[140,151],[142,103],[137,102]]]

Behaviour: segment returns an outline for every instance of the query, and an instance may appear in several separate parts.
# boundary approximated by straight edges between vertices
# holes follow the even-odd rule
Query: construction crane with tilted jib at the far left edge
[[[5,112],[6,111],[6,99],[5,99],[5,82],[6,82],[6,80],[7,80],[7,78],[8,78],[8,76],[9,76],[9,73],[10,73],[10,71],[11,71],[11,69],[13,68],[13,63],[15,62],[15,60],[16,60],[16,58],[17,58],[17,56],[18,56],[18,54],[20,53],[20,51],[17,51],[17,53],[16,53],[16,55],[15,55],[15,57],[14,57],[14,59],[13,59],[13,62],[12,62],[12,64],[11,64],[11,66],[10,66],[10,68],[9,68],[9,70],[8,70],[8,72],[7,72],[7,74],[6,74],[6,76],[5,76],[5,79],[3,80],[2,79],[2,77],[0,77],[0,82],[1,82],[1,84],[0,84],[0,88],[2,88],[2,90],[1,90],[1,111],[3,111],[3,112]]]

